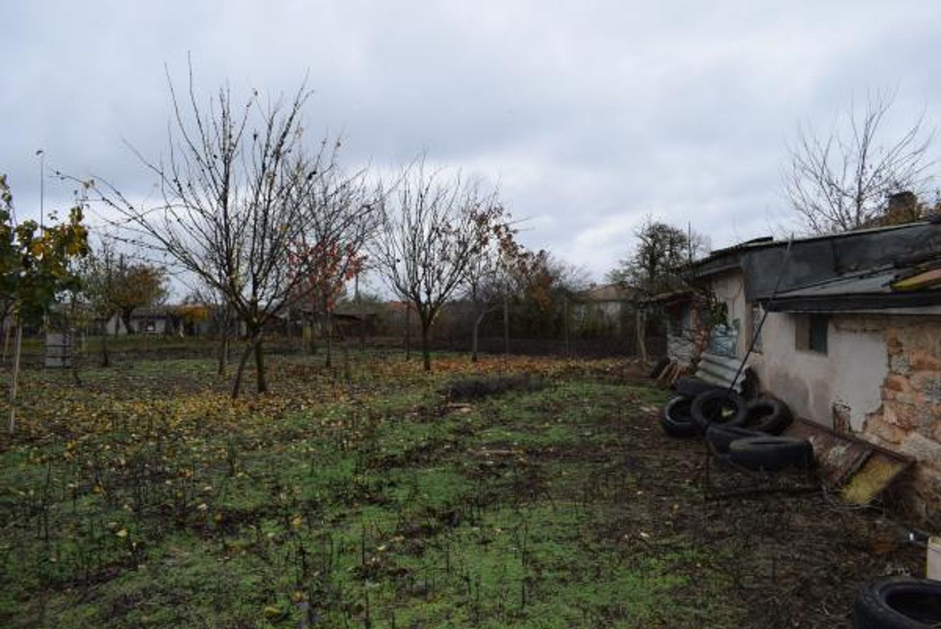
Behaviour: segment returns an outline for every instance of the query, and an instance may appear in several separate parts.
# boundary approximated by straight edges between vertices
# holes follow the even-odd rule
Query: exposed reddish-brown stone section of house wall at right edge
[[[892,316],[885,322],[882,407],[867,416],[859,436],[917,461],[901,498],[941,530],[941,316]]]

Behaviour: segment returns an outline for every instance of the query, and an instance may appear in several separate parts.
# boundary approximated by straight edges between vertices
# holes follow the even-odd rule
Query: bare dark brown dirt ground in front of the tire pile
[[[737,469],[698,439],[666,436],[645,410],[626,416],[624,430],[635,437],[625,439],[635,444],[626,460],[636,466],[647,504],[661,507],[654,525],[684,531],[707,548],[734,549],[717,567],[748,609],[743,626],[850,627],[867,580],[924,576],[925,549],[907,541],[911,529],[898,517],[841,503],[813,473]],[[677,501],[676,488],[687,484],[695,491]]]

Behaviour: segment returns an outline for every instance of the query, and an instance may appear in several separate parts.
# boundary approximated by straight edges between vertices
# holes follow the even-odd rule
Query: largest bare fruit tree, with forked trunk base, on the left
[[[310,224],[302,194],[324,176],[335,153],[327,142],[302,156],[301,113],[309,91],[263,103],[255,91],[236,104],[228,88],[200,104],[192,68],[181,97],[169,81],[173,117],[166,161],[138,153],[155,175],[161,202],[132,202],[107,181],[94,189],[120,216],[141,247],[165,252],[172,263],[217,291],[246,328],[249,344],[232,384],[241,389],[254,351],[257,389],[267,391],[263,330],[295,297],[300,278],[291,272],[292,251]]]

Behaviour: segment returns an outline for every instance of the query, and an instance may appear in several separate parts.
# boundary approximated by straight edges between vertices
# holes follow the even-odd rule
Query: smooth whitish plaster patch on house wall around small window
[[[832,315],[827,353],[795,348],[796,315],[770,313],[761,331],[762,351],[749,364],[761,386],[791,410],[833,426],[833,407],[849,408],[850,425],[861,430],[867,413],[879,410],[888,373],[883,324],[867,315]]]

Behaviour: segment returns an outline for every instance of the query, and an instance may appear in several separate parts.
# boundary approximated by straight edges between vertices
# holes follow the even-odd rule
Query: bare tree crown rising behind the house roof
[[[846,119],[835,121],[825,136],[799,126],[782,179],[807,232],[865,227],[890,195],[917,192],[930,179],[927,151],[933,134],[924,132],[923,116],[901,136],[884,137],[893,101],[893,93],[869,94],[863,111],[851,105]]]

